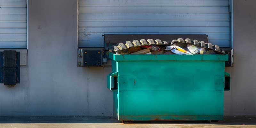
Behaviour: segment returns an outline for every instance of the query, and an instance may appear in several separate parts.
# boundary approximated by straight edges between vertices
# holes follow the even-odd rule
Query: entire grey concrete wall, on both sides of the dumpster
[[[256,115],[255,0],[234,0],[235,67],[225,115]],[[76,0],[29,0],[28,66],[0,85],[0,116],[111,116],[110,67],[78,68]],[[244,53],[243,49],[248,52]],[[210,100],[210,99],[209,99]]]

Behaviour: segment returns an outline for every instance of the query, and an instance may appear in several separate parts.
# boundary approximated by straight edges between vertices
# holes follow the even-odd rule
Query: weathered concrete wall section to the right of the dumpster
[[[234,68],[231,91],[225,92],[226,115],[256,115],[255,0],[234,0]]]

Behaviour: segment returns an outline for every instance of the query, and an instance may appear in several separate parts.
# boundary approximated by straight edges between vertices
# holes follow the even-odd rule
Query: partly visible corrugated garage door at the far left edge
[[[0,0],[0,48],[27,48],[26,0]]]

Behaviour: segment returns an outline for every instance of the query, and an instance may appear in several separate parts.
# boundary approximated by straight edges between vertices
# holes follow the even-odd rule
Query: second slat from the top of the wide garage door
[[[228,6],[80,6],[84,13],[228,13]]]

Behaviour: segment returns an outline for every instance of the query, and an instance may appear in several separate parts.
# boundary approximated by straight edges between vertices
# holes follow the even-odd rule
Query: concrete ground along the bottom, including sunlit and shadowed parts
[[[256,116],[226,116],[224,121],[134,122],[123,124],[106,116],[1,117],[0,128],[256,128]]]

